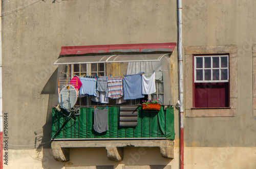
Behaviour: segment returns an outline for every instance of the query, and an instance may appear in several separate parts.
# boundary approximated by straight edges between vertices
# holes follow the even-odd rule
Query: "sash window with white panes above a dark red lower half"
[[[228,55],[195,55],[193,86],[194,107],[229,107]]]

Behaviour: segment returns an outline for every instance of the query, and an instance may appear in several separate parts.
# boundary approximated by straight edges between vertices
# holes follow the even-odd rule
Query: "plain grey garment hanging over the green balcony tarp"
[[[98,132],[102,133],[104,131],[109,130],[108,125],[108,108],[104,108],[102,110],[98,108],[94,108],[94,125],[93,129]]]

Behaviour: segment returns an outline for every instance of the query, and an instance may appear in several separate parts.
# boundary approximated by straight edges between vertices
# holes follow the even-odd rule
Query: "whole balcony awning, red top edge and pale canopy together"
[[[54,65],[114,62],[154,62],[160,61],[164,55],[172,53],[175,47],[176,43],[62,46],[60,52],[61,58],[55,61]],[[123,54],[120,54],[120,52],[123,52]],[[125,52],[129,52],[129,54]],[[136,54],[133,54],[133,52],[136,52]],[[153,52],[159,53],[153,54]],[[90,55],[90,53],[93,54]]]

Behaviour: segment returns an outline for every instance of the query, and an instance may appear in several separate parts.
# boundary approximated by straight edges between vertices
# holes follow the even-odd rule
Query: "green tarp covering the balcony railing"
[[[138,125],[119,127],[119,107],[108,107],[109,130],[97,133],[93,129],[94,107],[81,107],[76,121],[68,118],[69,113],[52,108],[53,139],[62,138],[168,138],[174,139],[174,108],[160,111],[144,111],[138,107]],[[66,122],[65,122],[66,121]],[[65,123],[65,124],[64,124]]]

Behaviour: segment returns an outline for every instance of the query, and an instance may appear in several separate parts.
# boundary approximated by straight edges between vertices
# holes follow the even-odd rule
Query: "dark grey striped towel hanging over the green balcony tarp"
[[[120,127],[136,127],[138,124],[138,106],[121,106],[119,116]]]

